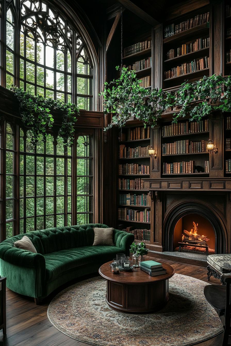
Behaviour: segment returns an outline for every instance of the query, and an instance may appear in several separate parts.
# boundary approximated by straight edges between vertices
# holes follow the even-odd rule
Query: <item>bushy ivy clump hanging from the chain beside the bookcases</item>
[[[116,70],[119,66],[116,66]],[[133,70],[123,67],[121,75],[112,82],[105,82],[105,89],[99,95],[103,96],[104,113],[112,113],[111,123],[104,129],[107,131],[114,125],[125,126],[126,122],[135,116],[142,120],[144,126],[156,125],[157,119],[165,110],[166,103],[171,97],[163,98],[161,89],[145,89],[141,85],[141,80],[136,77]]]

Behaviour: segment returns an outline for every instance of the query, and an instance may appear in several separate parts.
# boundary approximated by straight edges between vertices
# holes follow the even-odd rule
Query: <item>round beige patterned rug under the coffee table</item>
[[[73,339],[97,346],[186,346],[222,331],[215,310],[204,298],[206,282],[175,274],[169,279],[169,301],[152,314],[111,309],[106,280],[88,279],[60,292],[50,303],[51,323]]]

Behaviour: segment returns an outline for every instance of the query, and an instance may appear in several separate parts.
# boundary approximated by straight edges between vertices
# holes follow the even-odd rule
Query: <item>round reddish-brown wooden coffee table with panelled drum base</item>
[[[163,264],[166,274],[150,276],[140,268],[132,272],[113,274],[107,262],[99,268],[99,274],[107,279],[106,302],[122,312],[144,313],[160,310],[168,301],[168,279],[175,270]]]

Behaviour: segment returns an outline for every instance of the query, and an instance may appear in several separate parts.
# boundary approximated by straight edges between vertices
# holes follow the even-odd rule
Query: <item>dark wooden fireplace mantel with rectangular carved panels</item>
[[[231,191],[231,177],[225,178],[148,178],[144,189],[150,191]]]

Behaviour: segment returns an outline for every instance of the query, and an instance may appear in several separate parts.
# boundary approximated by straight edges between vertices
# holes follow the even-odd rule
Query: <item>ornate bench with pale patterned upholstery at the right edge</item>
[[[231,254],[209,255],[207,257],[208,281],[213,275],[225,285],[225,278],[231,276]]]

